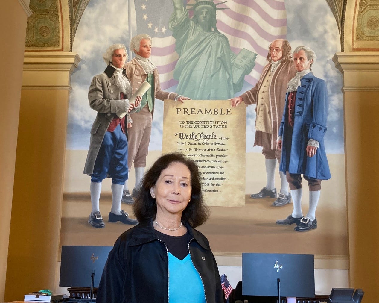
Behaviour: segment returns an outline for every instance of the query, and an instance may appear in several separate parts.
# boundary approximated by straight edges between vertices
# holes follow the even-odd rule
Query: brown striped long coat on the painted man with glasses
[[[257,84],[243,93],[243,98],[246,106],[257,103],[258,91],[263,84],[263,79],[267,72],[271,69],[271,63],[268,63],[257,82]],[[280,122],[282,121],[282,115],[285,105],[285,93],[288,87],[288,82],[296,75],[296,69],[293,61],[285,61],[280,63],[271,75],[271,82],[269,85],[269,104],[271,109],[271,125],[273,129],[273,135],[271,138],[271,149],[276,149],[276,139],[278,137],[278,131]],[[257,111],[257,108],[255,108]],[[254,146],[262,146],[262,132],[257,130],[255,132]]]

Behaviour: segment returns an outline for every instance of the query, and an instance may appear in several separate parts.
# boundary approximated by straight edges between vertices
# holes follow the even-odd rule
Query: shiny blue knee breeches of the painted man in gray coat
[[[112,183],[123,185],[128,179],[128,140],[120,124],[113,132],[105,132],[97,154],[91,182],[102,182],[106,177]]]

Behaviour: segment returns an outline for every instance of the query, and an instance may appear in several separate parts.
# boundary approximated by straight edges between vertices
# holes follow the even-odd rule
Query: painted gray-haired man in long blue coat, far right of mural
[[[324,147],[328,96],[325,81],[316,78],[311,71],[316,61],[315,52],[309,47],[298,46],[293,52],[293,61],[296,76],[288,83],[277,138],[277,147],[282,149],[280,171],[286,173],[290,184],[293,212],[276,223],[295,223],[295,231],[309,231],[317,228],[315,212],[321,180],[331,177]],[[305,216],[301,210],[301,174],[309,186],[309,210]]]

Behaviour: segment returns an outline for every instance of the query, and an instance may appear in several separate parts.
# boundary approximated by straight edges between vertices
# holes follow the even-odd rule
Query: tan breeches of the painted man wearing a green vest
[[[146,156],[149,153],[152,113],[145,105],[138,113],[130,114],[133,123],[128,128],[128,167],[146,167]]]

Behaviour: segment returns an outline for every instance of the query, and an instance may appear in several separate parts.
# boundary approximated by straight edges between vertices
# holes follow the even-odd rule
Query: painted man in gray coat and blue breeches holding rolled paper
[[[122,114],[138,110],[141,97],[136,97],[135,104],[129,103],[132,86],[123,68],[128,59],[126,47],[123,44],[111,45],[103,59],[108,66],[102,74],[93,77],[88,91],[89,106],[97,111],[83,172],[91,176],[92,211],[88,223],[96,228],[105,227],[99,199],[102,181],[110,177],[112,206],[108,222],[136,225],[138,221],[121,210],[124,183],[128,178],[127,127]]]

